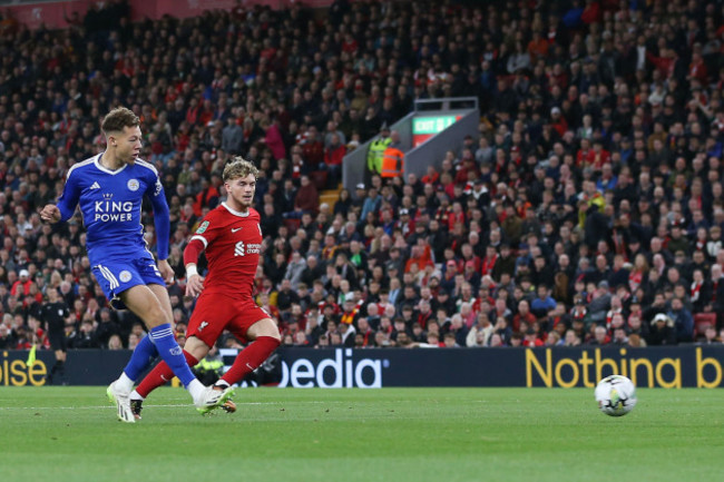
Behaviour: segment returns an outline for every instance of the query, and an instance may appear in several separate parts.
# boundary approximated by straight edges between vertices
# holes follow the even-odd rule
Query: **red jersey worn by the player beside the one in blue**
[[[192,239],[206,248],[208,275],[204,293],[251,298],[262,252],[262,227],[256,209],[233,210],[222,203],[204,218]]]

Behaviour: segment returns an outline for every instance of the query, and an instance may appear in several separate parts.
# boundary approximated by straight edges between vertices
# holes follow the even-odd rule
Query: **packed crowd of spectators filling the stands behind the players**
[[[242,155],[261,168],[258,303],[286,346],[722,342],[721,2],[239,3],[134,23],[115,1],[88,17],[1,24],[0,347],[43,343],[49,287],[71,347],[145,335],[107,306],[82,220],[38,216],[104,150],[118,105],[165,180],[179,336],[183,249]],[[439,168],[320,203],[413,99],[456,96],[479,98],[479,132]]]

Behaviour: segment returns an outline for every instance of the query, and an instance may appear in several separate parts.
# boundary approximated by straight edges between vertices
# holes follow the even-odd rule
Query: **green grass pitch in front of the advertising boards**
[[[580,388],[247,388],[203,417],[162,388],[124,424],[105,387],[0,387],[0,480],[721,481],[723,393],[615,419]]]

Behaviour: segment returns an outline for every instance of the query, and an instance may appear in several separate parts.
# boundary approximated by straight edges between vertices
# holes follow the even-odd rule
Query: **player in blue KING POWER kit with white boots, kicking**
[[[106,151],[74,165],[58,204],[47,205],[40,216],[50,223],[66,222],[80,205],[87,229],[88,258],[96,281],[115,308],[127,307],[148,327],[128,365],[107,390],[118,409],[118,420],[134,423],[129,395],[135,381],[150,362],[160,357],[172,367],[194,404],[202,412],[223,405],[231,388],[204,386],[192,373],[172,329],[172,306],[165,281],[174,270],[166,260],[170,222],[164,187],[156,168],[138,159],[140,121],[119,107],[104,119]],[[146,196],[154,209],[158,265],[144,240],[141,203]]]

